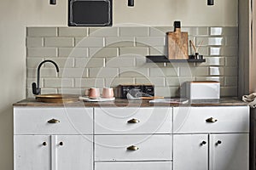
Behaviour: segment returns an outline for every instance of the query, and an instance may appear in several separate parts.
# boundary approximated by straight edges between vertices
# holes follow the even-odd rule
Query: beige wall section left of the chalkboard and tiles
[[[66,3],[1,0],[0,3],[0,169],[13,169],[12,104],[25,98],[26,26],[65,26]],[[52,15],[52,16],[51,16]]]

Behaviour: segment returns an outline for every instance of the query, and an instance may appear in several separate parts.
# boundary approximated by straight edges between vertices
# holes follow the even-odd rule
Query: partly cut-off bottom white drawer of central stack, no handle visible
[[[172,170],[172,161],[96,162],[95,170]]]

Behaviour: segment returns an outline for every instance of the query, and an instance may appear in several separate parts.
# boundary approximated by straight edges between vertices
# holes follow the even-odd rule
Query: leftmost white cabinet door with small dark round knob
[[[50,136],[14,136],[15,170],[51,169]]]

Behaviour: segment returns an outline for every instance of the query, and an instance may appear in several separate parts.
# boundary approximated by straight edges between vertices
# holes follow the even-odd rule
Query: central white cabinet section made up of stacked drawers
[[[95,166],[172,170],[172,108],[96,108]]]

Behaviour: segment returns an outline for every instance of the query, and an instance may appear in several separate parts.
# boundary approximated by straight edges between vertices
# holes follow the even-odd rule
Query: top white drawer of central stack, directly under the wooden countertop
[[[95,133],[172,133],[172,108],[96,108]]]

